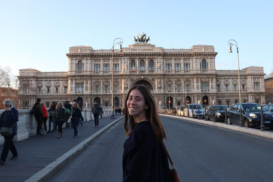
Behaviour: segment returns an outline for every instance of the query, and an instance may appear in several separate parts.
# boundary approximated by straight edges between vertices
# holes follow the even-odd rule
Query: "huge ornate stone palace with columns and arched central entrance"
[[[69,70],[41,72],[20,69],[20,108],[29,108],[39,97],[49,107],[52,101],[77,99],[81,105],[98,100],[110,107],[114,89],[115,107],[123,107],[133,85],[146,85],[157,106],[174,107],[185,103],[231,105],[239,102],[265,104],[263,67],[216,70],[214,46],[195,45],[190,49],[164,49],[136,43],[119,50],[94,50],[74,46],[66,54]],[[113,59],[112,59],[113,52]],[[230,60],[237,65],[237,60]],[[112,85],[113,68],[113,85]]]

